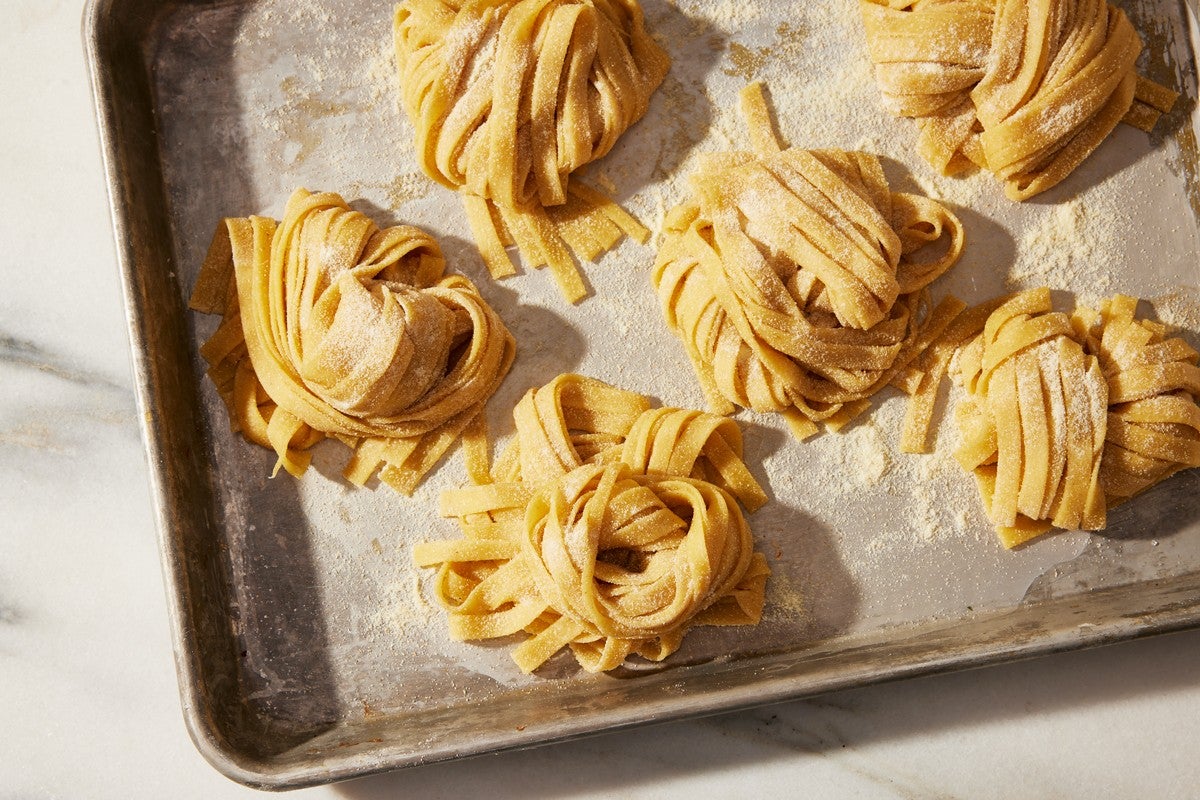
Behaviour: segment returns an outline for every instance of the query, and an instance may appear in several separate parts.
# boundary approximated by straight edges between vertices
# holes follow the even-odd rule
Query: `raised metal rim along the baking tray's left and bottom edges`
[[[173,6],[191,5],[149,1],[156,8],[154,13],[156,19],[161,19],[166,11]],[[214,4],[220,5],[222,2],[236,1],[239,0],[214,0]],[[248,787],[269,790],[312,787],[352,777],[386,772],[406,766],[521,750],[643,724],[673,722],[737,711],[890,680],[1008,663],[1055,652],[1100,646],[1159,633],[1200,627],[1200,572],[1184,573],[1175,576],[1171,579],[1171,584],[1182,583],[1183,594],[1190,595],[1189,600],[1166,603],[1144,612],[1135,612],[1128,614],[1123,620],[1110,620],[1092,625],[1086,630],[1074,626],[1060,626],[1052,631],[1048,631],[1036,640],[1024,643],[1010,642],[998,646],[984,645],[976,648],[974,652],[958,655],[938,656],[936,649],[926,648],[916,651],[908,660],[894,664],[889,672],[881,670],[872,674],[853,674],[851,672],[840,676],[809,681],[806,684],[803,680],[797,684],[794,676],[790,678],[785,675],[775,679],[767,691],[763,691],[762,686],[755,684],[742,687],[727,687],[709,692],[704,696],[704,702],[702,703],[692,703],[691,705],[679,704],[677,708],[655,714],[649,720],[628,718],[626,715],[626,718],[610,720],[599,727],[595,724],[564,726],[557,734],[548,736],[542,735],[541,732],[533,729],[534,726],[530,726],[532,729],[526,734],[510,736],[509,741],[500,744],[484,740],[473,746],[448,747],[438,752],[431,751],[424,754],[388,756],[386,753],[378,753],[383,757],[373,759],[365,759],[355,753],[335,753],[332,757],[320,759],[319,763],[312,763],[299,769],[282,763],[276,758],[260,758],[239,751],[220,730],[211,710],[208,708],[210,697],[203,691],[206,675],[203,672],[203,664],[197,652],[197,624],[187,602],[190,587],[185,569],[186,565],[182,561],[182,553],[180,552],[178,541],[173,536],[173,525],[176,522],[176,517],[173,515],[170,506],[170,476],[167,470],[170,451],[169,443],[163,437],[163,426],[166,422],[156,402],[160,390],[155,385],[151,374],[151,362],[154,359],[150,349],[150,337],[148,337],[150,320],[145,313],[144,300],[138,291],[138,258],[133,246],[137,225],[133,209],[137,200],[133,198],[130,187],[122,178],[128,168],[127,154],[124,150],[127,143],[121,138],[121,120],[116,108],[118,95],[110,73],[112,65],[106,61],[103,52],[107,41],[106,37],[109,35],[109,31],[106,29],[106,22],[110,22],[106,17],[112,17],[114,8],[121,2],[122,0],[86,0],[83,10],[82,38],[86,55],[88,78],[92,91],[101,160],[106,178],[106,193],[115,241],[118,271],[121,278],[131,362],[136,379],[134,395],[139,413],[140,435],[146,451],[152,513],[167,594],[172,649],[179,681],[184,722],[188,735],[200,754],[215,769],[230,780]],[[1196,0],[1181,0],[1181,7],[1186,17],[1190,14],[1190,24],[1194,28],[1196,19],[1200,18]],[[152,25],[149,30],[152,30]],[[1196,54],[1196,56],[1200,58],[1200,54]],[[145,66],[143,64],[143,67]],[[151,107],[148,110],[152,114],[154,109]],[[152,158],[156,163],[161,163],[157,139],[155,138],[151,144]],[[1129,591],[1132,587],[1141,585],[1145,585],[1145,582],[1115,587],[1104,591],[1105,594],[1116,596]],[[1049,602],[1069,606],[1074,600],[1076,597],[1068,596]],[[1006,613],[1013,612],[1009,610]]]

